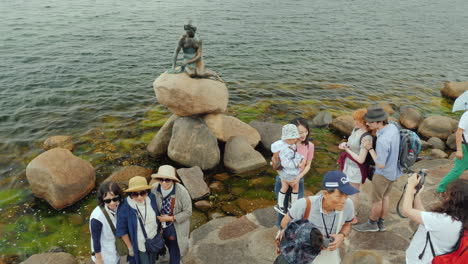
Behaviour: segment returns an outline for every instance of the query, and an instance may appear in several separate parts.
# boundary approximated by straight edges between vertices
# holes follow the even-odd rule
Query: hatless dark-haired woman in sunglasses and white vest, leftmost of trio
[[[115,182],[104,182],[99,186],[97,198],[98,206],[94,208],[89,218],[93,251],[91,258],[96,264],[120,263],[112,228],[115,228],[117,223],[117,208],[123,198],[123,191]]]

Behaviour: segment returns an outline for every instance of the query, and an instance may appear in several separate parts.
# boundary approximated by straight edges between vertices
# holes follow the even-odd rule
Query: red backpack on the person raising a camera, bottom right
[[[434,258],[432,259],[432,264],[464,264],[468,263],[468,230],[462,229],[460,231],[460,238],[458,239],[457,243],[453,247],[454,250],[452,252],[448,252],[442,255],[435,255],[434,246],[432,245],[431,236],[429,232],[426,235],[426,245],[424,246],[423,251],[419,255],[419,259],[422,259],[424,255],[424,251],[426,250],[427,242],[429,241],[429,245],[431,247],[432,255]]]

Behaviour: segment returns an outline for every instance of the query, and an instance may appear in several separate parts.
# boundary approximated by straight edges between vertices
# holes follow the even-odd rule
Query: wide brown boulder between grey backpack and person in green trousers
[[[446,116],[430,116],[419,125],[418,134],[426,137],[438,137],[443,140],[455,132],[458,121]]]

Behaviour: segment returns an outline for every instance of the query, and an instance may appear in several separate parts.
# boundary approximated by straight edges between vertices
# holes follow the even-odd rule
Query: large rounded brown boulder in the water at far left
[[[33,194],[55,209],[63,209],[84,197],[95,186],[93,166],[68,149],[53,148],[26,167]]]

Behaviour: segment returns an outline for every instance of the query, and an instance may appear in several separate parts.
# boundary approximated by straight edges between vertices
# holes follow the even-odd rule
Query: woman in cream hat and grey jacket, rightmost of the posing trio
[[[180,263],[181,256],[188,250],[192,200],[179,179],[176,170],[170,165],[159,167],[158,173],[151,175],[156,179],[152,193],[161,215],[158,216],[163,227],[163,237],[169,249],[170,264]]]

